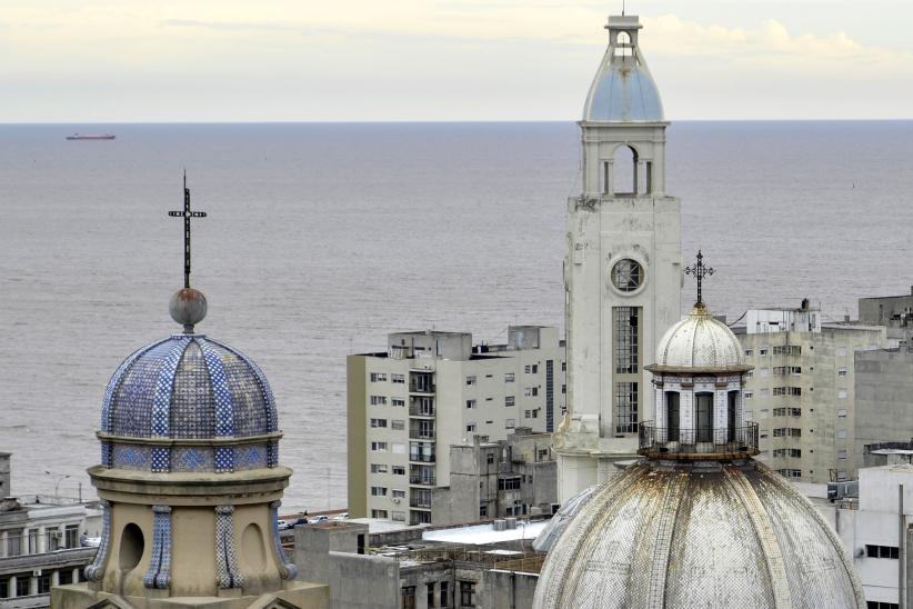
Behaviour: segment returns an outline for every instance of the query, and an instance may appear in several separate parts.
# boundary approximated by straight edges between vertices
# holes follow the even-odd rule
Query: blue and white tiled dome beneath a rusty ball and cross
[[[175,335],[131,355],[101,408],[102,465],[233,471],[277,462],[275,401],[263,372],[231,347]]]

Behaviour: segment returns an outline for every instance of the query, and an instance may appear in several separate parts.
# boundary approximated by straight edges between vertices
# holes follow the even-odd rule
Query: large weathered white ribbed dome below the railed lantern
[[[865,601],[840,539],[779,475],[751,459],[644,460],[582,503],[545,559],[533,607]]]

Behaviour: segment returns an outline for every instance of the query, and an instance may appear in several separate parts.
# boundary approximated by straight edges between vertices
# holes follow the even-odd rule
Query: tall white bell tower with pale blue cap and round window
[[[582,193],[568,201],[568,412],[555,433],[559,499],[633,459],[649,419],[644,365],[679,321],[681,204],[665,193],[665,128],[635,16],[610,17],[586,104]]]

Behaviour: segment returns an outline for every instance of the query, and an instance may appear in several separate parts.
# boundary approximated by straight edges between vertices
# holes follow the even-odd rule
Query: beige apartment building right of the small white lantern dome
[[[759,425],[758,459],[801,482],[846,480],[854,458],[854,355],[886,347],[884,327],[825,323],[820,310],[758,309],[734,328],[754,366],[745,416]]]

